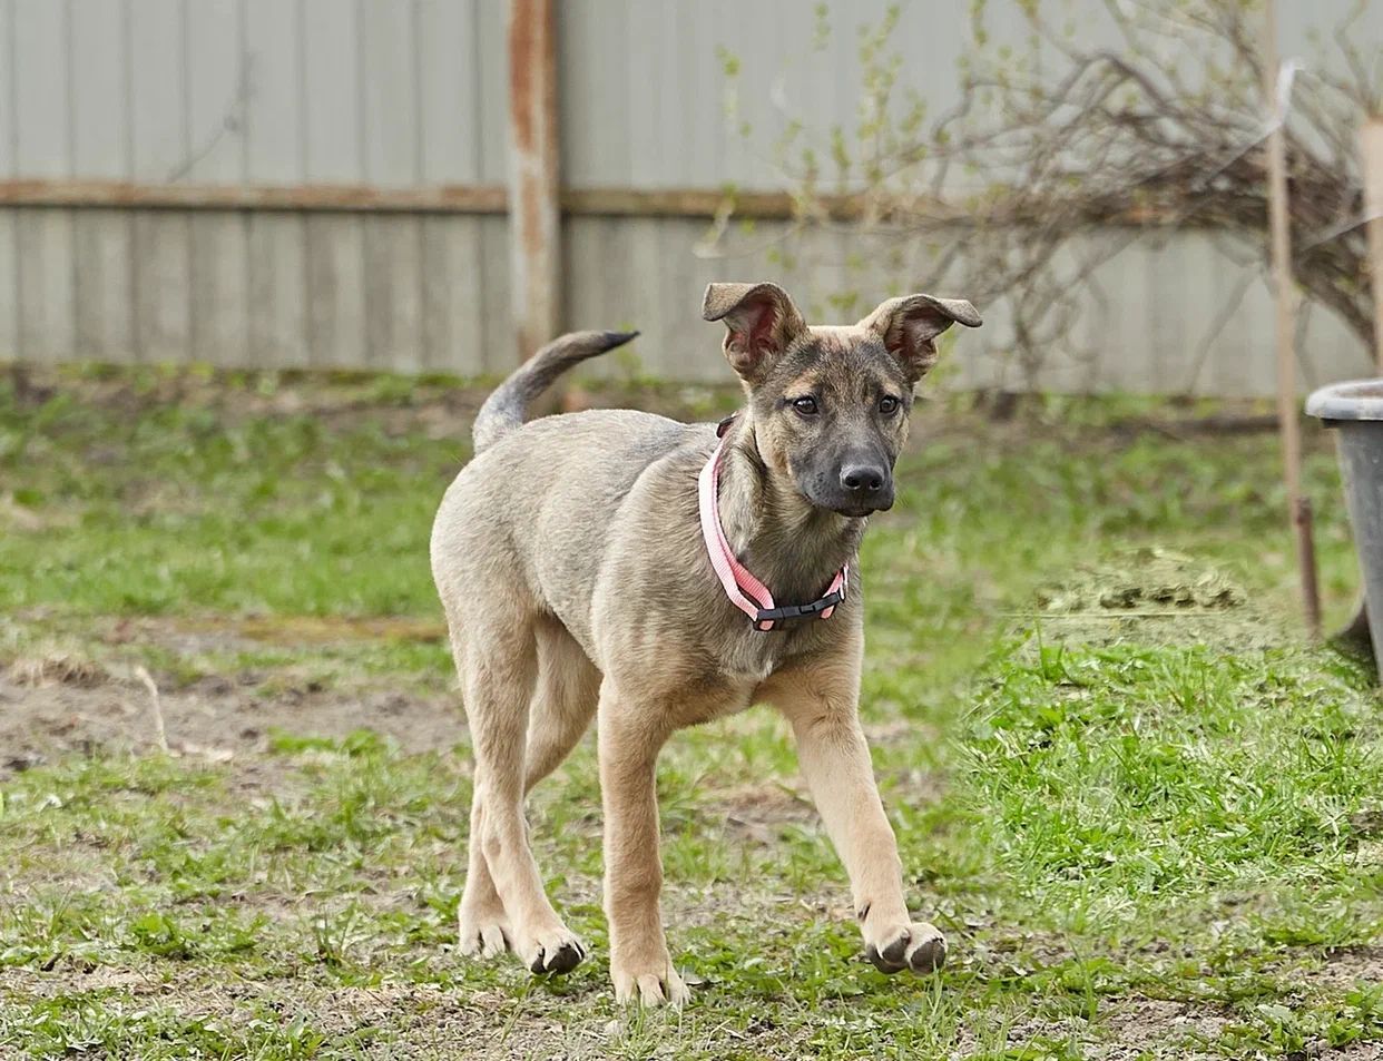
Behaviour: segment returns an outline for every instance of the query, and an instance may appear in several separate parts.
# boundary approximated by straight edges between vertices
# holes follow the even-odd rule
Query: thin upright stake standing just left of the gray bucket
[[[1268,225],[1272,234],[1272,286],[1277,300],[1278,430],[1289,519],[1296,537],[1297,571],[1307,631],[1321,635],[1321,598],[1311,538],[1311,502],[1301,495],[1301,432],[1296,386],[1296,281],[1292,277],[1292,227],[1288,214],[1286,101],[1278,98],[1278,24],[1274,0],[1263,6],[1263,100],[1275,123],[1268,137]]]

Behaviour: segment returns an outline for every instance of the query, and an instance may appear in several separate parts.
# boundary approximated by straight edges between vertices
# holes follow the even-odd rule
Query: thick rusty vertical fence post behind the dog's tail
[[[553,0],[509,0],[509,277],[517,360],[561,325]]]

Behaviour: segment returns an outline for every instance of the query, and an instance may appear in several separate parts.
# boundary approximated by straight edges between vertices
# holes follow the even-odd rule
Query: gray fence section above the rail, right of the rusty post
[[[831,32],[817,43],[813,0],[581,0],[561,6],[563,154],[571,187],[777,188],[776,142],[788,122],[809,126],[788,159],[810,142],[826,158],[830,130],[853,136],[862,26],[889,0],[830,4]],[[903,82],[956,94],[956,57],[969,3],[906,4],[898,41],[916,59]],[[726,58],[739,61],[726,77]],[[741,126],[750,131],[741,134]]]

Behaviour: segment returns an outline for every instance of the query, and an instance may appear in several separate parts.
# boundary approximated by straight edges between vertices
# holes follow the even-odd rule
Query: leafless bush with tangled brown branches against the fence
[[[1372,347],[1355,137],[1364,115],[1379,111],[1383,47],[1355,39],[1366,3],[1314,41],[1314,61],[1275,76],[1290,93],[1293,249],[1307,308],[1339,314]],[[1106,25],[1079,33],[1062,25],[1068,7],[1000,6],[1018,12],[1022,39],[992,39],[990,4],[978,0],[961,101],[935,119],[906,98],[909,41],[896,39],[891,11],[862,39],[860,127],[834,131],[827,163],[812,151],[791,163],[783,152],[781,162],[801,225],[839,224],[848,203],[852,225],[925,235],[936,274],[985,302],[1003,297],[1012,353],[1033,373],[1048,351],[1069,346],[1094,273],[1131,243],[1198,228],[1239,261],[1265,260],[1272,108],[1261,10],[1249,0],[1105,0]],[[794,123],[784,145],[797,131]],[[838,180],[828,188],[823,172],[833,163]],[[1234,308],[1212,326],[1198,361]]]

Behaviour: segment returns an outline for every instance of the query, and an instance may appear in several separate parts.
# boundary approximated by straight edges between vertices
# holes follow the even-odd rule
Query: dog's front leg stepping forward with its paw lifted
[[[939,968],[946,941],[927,921],[913,921],[903,898],[898,841],[859,722],[857,650],[774,675],[763,692],[792,725],[802,776],[851,878],[869,960],[884,972]]]

